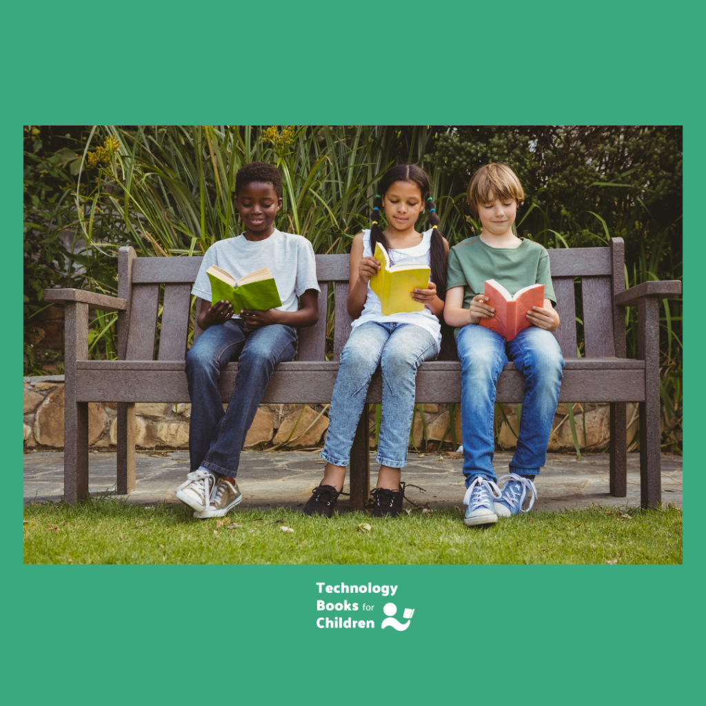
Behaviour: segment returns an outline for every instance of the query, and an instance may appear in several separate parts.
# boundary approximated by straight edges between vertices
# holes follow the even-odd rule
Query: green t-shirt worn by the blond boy
[[[463,287],[463,308],[484,292],[486,280],[500,282],[510,294],[523,287],[544,285],[544,298],[556,304],[551,286],[549,253],[539,244],[522,238],[516,248],[491,248],[478,236],[462,240],[448,253],[446,288]],[[455,330],[458,335],[460,328]]]

